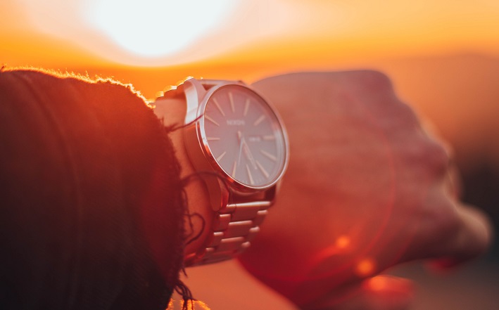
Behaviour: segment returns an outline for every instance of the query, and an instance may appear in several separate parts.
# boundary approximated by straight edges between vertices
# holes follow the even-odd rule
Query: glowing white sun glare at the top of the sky
[[[206,36],[233,11],[231,0],[94,0],[84,17],[123,49],[168,56]]]

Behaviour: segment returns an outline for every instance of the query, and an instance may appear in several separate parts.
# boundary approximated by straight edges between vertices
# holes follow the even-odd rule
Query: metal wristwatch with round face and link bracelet
[[[185,266],[230,259],[250,246],[274,203],[289,159],[277,111],[239,81],[187,79],[153,103],[161,119],[171,98],[185,100],[180,130],[189,160],[210,196],[213,233]]]

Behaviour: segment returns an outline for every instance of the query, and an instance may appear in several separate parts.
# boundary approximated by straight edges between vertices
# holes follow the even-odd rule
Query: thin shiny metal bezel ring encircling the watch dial
[[[234,179],[230,174],[225,172],[222,166],[217,162],[213,153],[211,153],[208,139],[206,138],[206,131],[204,130],[205,117],[203,117],[203,113],[206,109],[206,105],[208,105],[208,101],[210,101],[210,98],[215,94],[215,92],[227,86],[244,87],[245,89],[248,89],[248,91],[251,91],[254,94],[254,96],[258,96],[263,102],[265,102],[268,105],[268,107],[270,108],[270,112],[272,112],[273,115],[275,116],[275,120],[277,120],[277,123],[281,129],[281,134],[284,143],[283,146],[284,158],[282,160],[282,166],[280,167],[280,171],[277,173],[277,176],[274,178],[274,180],[272,180],[272,182],[270,183],[266,183],[262,186],[251,186],[246,183],[242,183],[237,179]],[[198,136],[198,141],[199,141],[199,146],[201,147],[201,151],[203,152],[206,160],[208,161],[208,164],[210,164],[210,167],[212,167],[215,170],[215,172],[221,173],[223,176],[225,176],[225,180],[231,184],[232,188],[242,193],[254,192],[255,190],[267,190],[269,188],[272,188],[272,186],[275,186],[282,179],[282,176],[286,172],[286,168],[288,166],[288,161],[289,161],[289,143],[288,143],[288,136],[286,133],[286,127],[284,127],[284,122],[282,122],[282,118],[279,115],[279,112],[277,112],[274,105],[272,105],[272,103],[270,103],[270,101],[268,101],[265,98],[265,96],[262,96],[261,93],[251,88],[250,86],[244,84],[243,82],[229,82],[229,81],[220,82],[220,84],[212,86],[210,89],[208,89],[206,95],[203,96],[202,101],[198,105],[197,117],[198,119],[196,121],[196,134]]]

